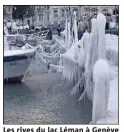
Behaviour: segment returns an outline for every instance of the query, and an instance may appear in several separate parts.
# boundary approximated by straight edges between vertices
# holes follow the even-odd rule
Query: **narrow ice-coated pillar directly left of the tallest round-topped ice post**
[[[96,63],[97,59],[98,59],[98,32],[97,32],[97,20],[94,18],[92,19],[92,30],[90,34],[88,52],[85,61],[85,90],[84,93],[82,93],[79,100],[82,100],[86,93],[88,99],[92,101],[92,95],[93,95],[92,71],[93,71],[93,66]]]

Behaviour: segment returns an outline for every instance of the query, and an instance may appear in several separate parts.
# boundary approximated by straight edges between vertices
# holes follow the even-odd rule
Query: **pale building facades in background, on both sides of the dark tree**
[[[105,14],[107,20],[111,19],[115,6],[35,6],[34,16],[24,18],[24,24],[30,21],[31,25],[47,26],[58,25],[64,26],[66,18],[73,16],[76,11],[77,20],[87,21],[98,12]],[[12,20],[12,6],[4,6],[4,19]]]

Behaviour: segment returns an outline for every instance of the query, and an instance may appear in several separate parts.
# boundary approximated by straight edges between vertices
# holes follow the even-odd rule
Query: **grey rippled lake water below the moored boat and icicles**
[[[76,104],[81,93],[70,96],[71,89],[60,73],[32,63],[23,83],[4,85],[4,124],[88,124],[91,102]]]

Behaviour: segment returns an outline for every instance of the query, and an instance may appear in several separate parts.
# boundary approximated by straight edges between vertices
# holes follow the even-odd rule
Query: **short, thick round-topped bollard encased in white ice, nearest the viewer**
[[[109,65],[105,60],[98,60],[93,69],[93,107],[92,123],[107,114],[109,99]]]

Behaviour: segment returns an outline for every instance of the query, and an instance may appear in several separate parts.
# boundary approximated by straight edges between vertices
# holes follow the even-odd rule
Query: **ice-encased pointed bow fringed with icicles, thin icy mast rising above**
[[[74,15],[76,13],[74,12]],[[68,80],[69,82],[77,82],[80,74],[80,69],[78,67],[78,54],[80,49],[78,47],[78,37],[77,37],[77,23],[76,16],[74,19],[74,35],[75,35],[75,44],[72,44],[69,50],[66,53],[61,55],[60,62],[63,66],[63,79]],[[70,34],[69,34],[70,35]]]

